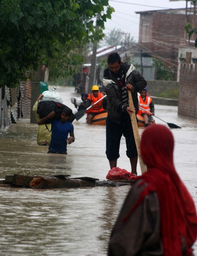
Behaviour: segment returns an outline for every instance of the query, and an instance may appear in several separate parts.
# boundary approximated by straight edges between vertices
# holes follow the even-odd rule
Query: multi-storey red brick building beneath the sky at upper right
[[[138,48],[141,59],[150,66],[153,58],[163,61],[177,79],[179,47],[188,45],[184,26],[194,22],[195,10],[181,8],[136,13],[140,14]]]

